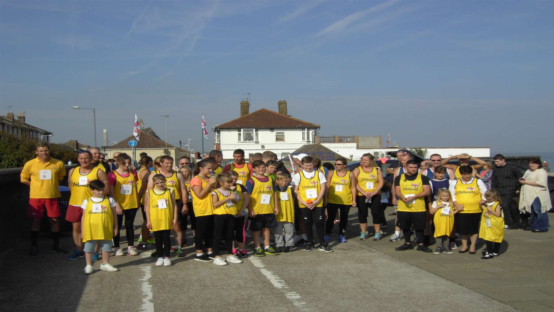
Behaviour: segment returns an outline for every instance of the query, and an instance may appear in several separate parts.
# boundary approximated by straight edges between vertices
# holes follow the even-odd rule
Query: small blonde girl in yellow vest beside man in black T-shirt
[[[454,241],[454,214],[458,210],[454,209],[452,196],[448,189],[439,189],[437,191],[437,199],[433,201],[429,208],[429,213],[434,215],[433,223],[435,224],[435,238],[440,238],[440,245],[437,243],[435,255],[439,255],[443,251],[447,254],[453,254],[450,243]],[[445,239],[448,238],[448,244],[445,246]]]

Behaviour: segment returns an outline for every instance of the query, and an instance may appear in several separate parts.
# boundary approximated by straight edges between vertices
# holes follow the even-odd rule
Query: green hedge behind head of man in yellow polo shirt
[[[37,139],[17,137],[17,135],[0,131],[0,168],[18,168],[29,160],[37,157],[35,145]],[[64,164],[69,160],[77,163],[77,153],[70,150],[66,145],[50,144],[50,156],[59,159]]]

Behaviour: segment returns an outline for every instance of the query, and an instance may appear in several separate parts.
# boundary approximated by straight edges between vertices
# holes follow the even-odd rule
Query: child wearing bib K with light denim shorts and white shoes
[[[89,188],[93,193],[91,197],[85,199],[81,208],[84,209],[83,217],[81,217],[81,239],[85,246],[85,274],[91,274],[93,268],[93,253],[96,248],[96,243],[100,243],[102,247],[102,264],[100,270],[115,272],[119,269],[114,268],[109,263],[111,252],[111,240],[114,235],[117,235],[116,207],[119,204],[115,199],[107,197],[105,193],[106,184],[100,180],[92,180],[89,182]]]

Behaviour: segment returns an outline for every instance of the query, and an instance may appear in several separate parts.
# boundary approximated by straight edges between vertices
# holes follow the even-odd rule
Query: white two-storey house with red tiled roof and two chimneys
[[[233,158],[235,149],[243,149],[246,157],[271,150],[288,154],[304,144],[315,143],[319,125],[290,117],[285,100],[278,102],[279,112],[262,108],[249,113],[250,103],[240,102],[240,117],[214,127],[215,149],[223,158]]]

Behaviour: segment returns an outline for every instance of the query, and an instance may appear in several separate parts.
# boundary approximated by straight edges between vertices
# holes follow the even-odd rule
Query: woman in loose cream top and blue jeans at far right
[[[548,174],[542,169],[541,160],[529,159],[529,170],[519,179],[521,195],[519,209],[521,213],[530,213],[531,221],[525,230],[534,233],[548,231],[548,210],[552,209],[548,193]]]

